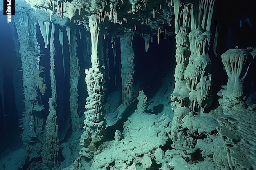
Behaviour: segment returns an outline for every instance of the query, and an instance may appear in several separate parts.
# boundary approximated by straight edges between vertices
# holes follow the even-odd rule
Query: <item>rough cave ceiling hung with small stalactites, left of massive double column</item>
[[[15,3],[16,11],[61,26],[88,28],[88,17],[96,13],[110,35],[126,30],[175,35],[171,0],[16,0]]]

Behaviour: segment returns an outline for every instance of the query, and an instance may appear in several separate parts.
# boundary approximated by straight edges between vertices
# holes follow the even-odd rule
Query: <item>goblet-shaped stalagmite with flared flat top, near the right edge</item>
[[[229,49],[221,56],[229,77],[227,88],[222,91],[225,115],[231,113],[230,106],[236,106],[233,108],[236,110],[246,107],[242,97],[244,95],[244,79],[253,59],[250,51],[251,49]]]

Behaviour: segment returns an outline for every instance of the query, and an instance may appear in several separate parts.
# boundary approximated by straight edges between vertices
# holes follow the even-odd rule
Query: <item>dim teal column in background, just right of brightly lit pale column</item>
[[[132,95],[132,83],[134,73],[134,51],[132,48],[133,32],[124,32],[120,36],[121,47],[121,77],[122,77],[122,102],[124,105],[130,104]]]

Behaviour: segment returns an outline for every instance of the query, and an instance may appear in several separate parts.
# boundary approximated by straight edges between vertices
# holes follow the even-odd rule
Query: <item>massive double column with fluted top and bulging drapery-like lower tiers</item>
[[[205,108],[211,106],[211,20],[214,0],[195,0],[182,2],[174,0],[175,33],[176,35],[176,68],[175,88],[171,95],[174,117],[172,121],[172,147],[182,150],[182,157],[188,161],[197,162],[194,158],[198,154],[195,145],[199,137],[206,138],[214,134],[215,128],[210,131],[199,132],[197,128],[188,126],[186,122],[200,119],[209,121],[209,127],[215,125],[211,117],[199,116]],[[193,116],[196,119],[192,119]],[[197,134],[197,135],[196,135]]]

